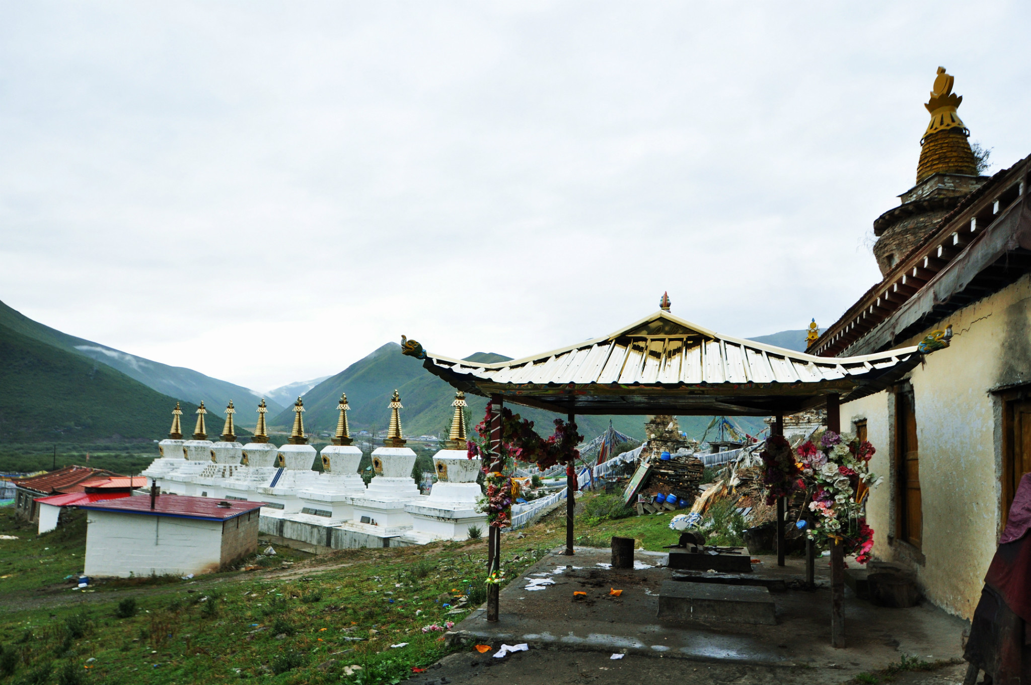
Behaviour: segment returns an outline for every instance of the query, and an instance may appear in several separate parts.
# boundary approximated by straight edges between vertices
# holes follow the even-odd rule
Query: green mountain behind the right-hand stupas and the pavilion
[[[466,357],[467,361],[483,363],[508,359],[511,357],[488,352],[477,352]],[[402,355],[401,346],[397,342],[384,345],[306,392],[303,395],[304,427],[309,431],[334,431],[338,416],[337,403],[340,393],[345,392],[351,405],[347,419],[352,431],[383,430],[390,421],[388,405],[395,389],[404,405],[401,424],[405,435],[446,434],[451,427],[451,403],[455,398],[455,390],[424,369],[421,361]],[[487,398],[466,395],[466,401],[469,404],[471,428],[484,418]],[[512,406],[512,411],[533,421],[541,435],[551,434],[555,419],[565,419],[565,416],[559,414],[525,406]],[[702,434],[710,419],[711,417],[678,417],[680,430],[693,437]],[[644,416],[576,418],[580,433],[589,438],[605,430],[609,420],[618,430],[638,439],[644,438],[644,422],[647,420]],[[750,433],[758,432],[764,425],[762,419],[756,417],[734,417],[731,420]],[[271,420],[270,424],[279,430],[288,430],[293,421],[293,410],[288,407]]]

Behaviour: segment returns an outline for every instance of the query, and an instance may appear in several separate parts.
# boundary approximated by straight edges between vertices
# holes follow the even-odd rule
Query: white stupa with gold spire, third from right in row
[[[333,444],[322,451],[323,472],[314,485],[302,490],[301,513],[321,516],[332,522],[342,523],[354,518],[351,497],[365,492],[365,482],[358,475],[358,464],[362,451],[351,444],[351,427],[347,425],[347,395],[340,395],[337,410],[336,436]]]

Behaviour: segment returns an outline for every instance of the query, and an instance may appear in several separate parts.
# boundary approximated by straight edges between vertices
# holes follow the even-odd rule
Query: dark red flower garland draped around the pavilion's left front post
[[[557,463],[572,464],[579,457],[576,446],[584,438],[576,432],[575,423],[556,419],[555,432],[544,439],[534,431],[532,421],[502,406],[501,448],[495,453],[490,449],[493,412],[494,403],[488,402],[487,414],[475,428],[479,439],[468,441],[467,456],[480,457],[481,470],[487,476],[487,498],[477,510],[487,514],[491,526],[505,528],[511,525],[511,505],[519,496],[519,484],[504,471],[517,460],[537,464],[540,470]]]

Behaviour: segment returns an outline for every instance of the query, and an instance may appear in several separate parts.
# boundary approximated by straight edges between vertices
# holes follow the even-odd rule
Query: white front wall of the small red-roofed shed
[[[185,576],[219,569],[221,521],[98,511],[87,514],[87,576]]]

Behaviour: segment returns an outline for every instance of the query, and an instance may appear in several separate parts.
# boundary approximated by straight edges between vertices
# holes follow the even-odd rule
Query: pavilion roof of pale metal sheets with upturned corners
[[[605,335],[492,364],[423,352],[424,366],[465,392],[573,414],[768,416],[877,392],[916,366],[916,347],[816,357],[720,335],[659,311]]]

